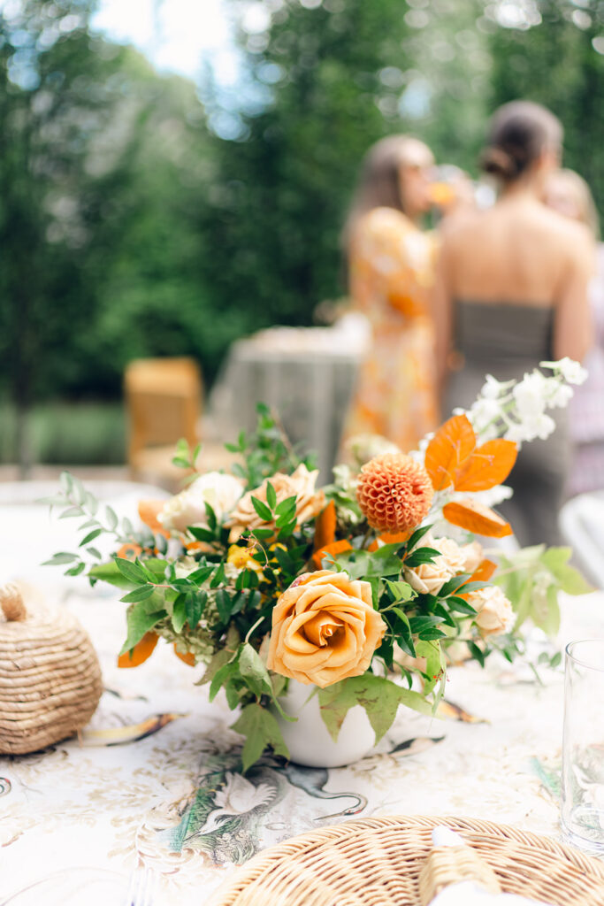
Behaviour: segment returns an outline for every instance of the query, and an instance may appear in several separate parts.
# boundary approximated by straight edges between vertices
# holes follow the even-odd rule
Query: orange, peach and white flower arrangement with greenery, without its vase
[[[584,377],[570,360],[542,367],[551,376],[488,377],[472,409],[419,451],[390,446],[356,471],[336,467],[321,488],[259,406],[254,434],[228,446],[240,458],[232,474],[200,475],[199,448],[179,443],[187,487],[141,502],[142,530],[64,473],[50,502],[83,518],[83,537],[78,553],[50,563],[125,592],[120,666],[149,658],[160,639],[204,665],[210,699],[224,689],[239,710],[244,769],[266,747],[288,757],[275,714],[295,719],[282,704],[292,680],[317,690],[332,737],[360,704],[378,739],[401,704],[434,713],[450,660],[484,665],[492,651],[512,660],[526,620],[553,634],[558,592],[588,590],[567,548],[501,555],[483,546],[513,532],[492,506],[508,496],[519,444],[553,429],[545,410]],[[101,533],[115,539],[108,562],[94,546]]]

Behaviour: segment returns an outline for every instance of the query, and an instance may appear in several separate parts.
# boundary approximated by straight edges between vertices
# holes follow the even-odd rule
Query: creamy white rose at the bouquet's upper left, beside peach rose
[[[238,478],[223,472],[206,472],[180,494],[170,497],[158,521],[170,532],[184,532],[189,525],[207,525],[206,504],[221,520],[231,512],[244,487]]]

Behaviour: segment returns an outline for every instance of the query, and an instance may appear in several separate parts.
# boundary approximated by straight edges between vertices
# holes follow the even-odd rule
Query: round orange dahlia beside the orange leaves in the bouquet
[[[405,532],[419,525],[433,496],[426,469],[404,453],[383,453],[360,470],[359,506],[380,532]]]

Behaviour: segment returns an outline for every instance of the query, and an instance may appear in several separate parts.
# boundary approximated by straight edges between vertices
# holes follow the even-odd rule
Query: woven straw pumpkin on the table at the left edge
[[[72,736],[101,698],[101,667],[71,613],[0,587],[0,753],[22,755]]]

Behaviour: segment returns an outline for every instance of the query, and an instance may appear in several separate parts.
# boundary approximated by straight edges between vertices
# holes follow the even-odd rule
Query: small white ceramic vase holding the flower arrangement
[[[340,767],[359,761],[375,745],[365,708],[350,708],[334,742],[321,718],[319,696],[312,695],[315,689],[289,679],[287,691],[279,699],[285,713],[298,718],[284,720],[275,712],[292,761],[309,767]]]

